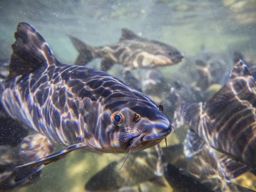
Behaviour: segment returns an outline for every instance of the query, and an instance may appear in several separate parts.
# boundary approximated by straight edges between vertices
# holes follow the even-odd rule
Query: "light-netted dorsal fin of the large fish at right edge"
[[[244,62],[239,59],[232,69],[228,82],[209,102],[231,101],[235,96],[246,98],[254,94],[254,90],[256,90],[255,80]]]

